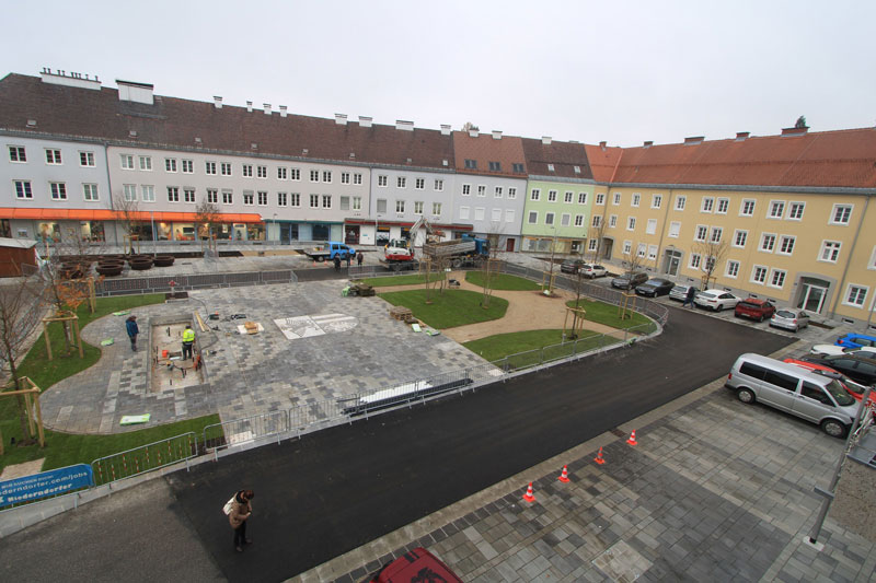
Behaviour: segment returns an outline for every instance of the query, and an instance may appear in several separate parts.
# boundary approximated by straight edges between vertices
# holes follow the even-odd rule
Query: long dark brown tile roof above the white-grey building
[[[27,128],[28,119],[36,120]],[[161,148],[198,148],[242,154],[275,154],[339,162],[452,170],[453,141],[439,130],[338,125],[334,119],[157,96],[154,105],[122,102],[115,89],[100,91],[44,83],[9,74],[0,80],[0,128],[38,133],[132,141]],[[131,139],[129,131],[137,132]],[[253,149],[252,144],[257,148]],[[304,150],[307,154],[303,154]],[[355,153],[355,159],[350,159]],[[410,159],[410,162],[408,162]],[[522,159],[522,156],[521,156]],[[443,161],[447,160],[447,166]]]

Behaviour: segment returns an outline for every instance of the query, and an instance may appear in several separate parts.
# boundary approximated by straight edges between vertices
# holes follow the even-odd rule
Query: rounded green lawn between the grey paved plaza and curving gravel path
[[[508,301],[502,298],[491,298],[489,307],[484,310],[484,294],[465,290],[445,290],[441,294],[431,290],[431,304],[426,303],[426,290],[385,292],[380,296],[392,305],[410,307],[414,316],[438,329],[498,319],[508,310]]]

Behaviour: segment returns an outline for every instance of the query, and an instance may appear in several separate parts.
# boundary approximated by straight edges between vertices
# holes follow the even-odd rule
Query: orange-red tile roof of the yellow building
[[[613,182],[874,188],[876,129],[626,148]]]

